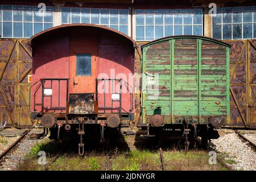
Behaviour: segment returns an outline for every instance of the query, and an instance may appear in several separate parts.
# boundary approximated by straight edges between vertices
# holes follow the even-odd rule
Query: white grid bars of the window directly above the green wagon
[[[139,10],[139,11],[143,11],[143,12],[140,12],[139,13],[139,15],[143,15],[143,18],[144,18],[144,24],[139,24],[139,25],[137,25],[137,23],[136,23],[136,15],[137,15],[137,13],[136,13],[136,11],[137,10]],[[195,35],[194,34],[194,28],[193,28],[193,26],[201,26],[201,36],[203,36],[204,35],[204,11],[203,11],[203,9],[196,9],[196,10],[201,10],[201,13],[200,13],[200,15],[201,15],[201,24],[194,24],[194,22],[193,22],[193,20],[194,20],[194,18],[195,18],[195,13],[196,13],[196,10],[194,10],[194,9],[179,9],[180,10],[180,12],[178,13],[178,14],[182,14],[182,23],[181,24],[175,24],[174,23],[174,15],[175,15],[175,10],[176,9],[155,9],[155,10],[152,10],[152,11],[154,11],[154,24],[150,24],[150,25],[146,25],[146,10],[148,10],[148,9],[135,9],[135,11],[134,11],[134,16],[135,16],[135,21],[134,21],[134,38],[135,38],[135,40],[136,41],[139,41],[139,42],[148,42],[148,41],[152,41],[152,40],[156,40],[156,36],[155,36],[155,27],[156,26],[163,26],[163,37],[166,37],[166,32],[165,32],[165,28],[166,28],[166,26],[172,26],[172,35],[168,35],[168,36],[175,36],[174,35],[174,26],[182,26],[182,35],[184,35],[184,26],[192,26],[192,35]],[[162,15],[163,15],[163,24],[155,24],[155,11],[156,10],[162,10]],[[166,20],[166,10],[170,10],[170,14],[172,15],[172,24],[166,24],[165,23],[165,20]],[[177,10],[176,10],[177,11]],[[142,14],[143,13],[143,14]],[[186,14],[186,13],[190,13],[189,15],[192,15],[192,22],[191,22],[191,24],[184,24],[184,14]],[[136,36],[136,28],[137,28],[137,26],[138,27],[144,27],[144,36],[143,36],[143,40],[137,40],[137,36]],[[154,38],[152,39],[152,40],[147,40],[146,39],[146,26],[154,26]],[[142,39],[142,37],[139,37],[140,39]],[[158,38],[159,39],[159,38]]]

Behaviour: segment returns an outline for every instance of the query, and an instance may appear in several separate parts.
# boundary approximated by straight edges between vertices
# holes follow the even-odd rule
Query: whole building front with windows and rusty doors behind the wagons
[[[27,39],[48,28],[71,23],[110,27],[130,36],[138,45],[175,35],[200,35],[224,40],[232,46],[232,124],[255,127],[254,0],[3,0],[0,2],[0,122],[7,121],[8,125],[18,127],[31,125],[29,93],[32,53]],[[140,69],[140,66],[137,61],[135,69]]]

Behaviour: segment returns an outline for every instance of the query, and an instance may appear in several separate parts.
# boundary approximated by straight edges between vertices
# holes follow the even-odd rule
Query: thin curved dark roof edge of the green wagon
[[[150,46],[151,44],[154,44],[154,43],[157,43],[157,42],[163,42],[164,40],[170,40],[170,39],[182,39],[182,38],[191,38],[191,39],[203,39],[203,40],[209,40],[210,42],[215,42],[215,43],[218,43],[218,44],[222,44],[223,46],[226,46],[226,47],[231,47],[229,44],[225,43],[225,42],[222,42],[220,40],[216,40],[216,39],[212,39],[212,38],[209,38],[207,36],[197,36],[197,35],[178,35],[178,36],[167,36],[165,38],[160,38],[160,39],[156,39],[156,40],[153,40],[152,42],[149,42],[147,44],[144,44],[142,46],[143,47],[147,47],[147,46]]]

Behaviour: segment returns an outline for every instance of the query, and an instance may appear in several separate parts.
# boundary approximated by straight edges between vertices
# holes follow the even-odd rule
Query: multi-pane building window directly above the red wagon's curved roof
[[[61,8],[61,23],[90,23],[114,28],[128,35],[128,15],[126,9],[86,9]]]

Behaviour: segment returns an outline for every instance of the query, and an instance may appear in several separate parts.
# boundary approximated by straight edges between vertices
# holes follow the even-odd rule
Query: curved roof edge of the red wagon
[[[105,26],[100,26],[100,25],[97,25],[97,24],[86,24],[86,23],[62,24],[60,26],[48,28],[47,30],[41,31],[38,34],[35,34],[35,35],[31,36],[31,38],[28,40],[28,44],[30,44],[30,46],[32,46],[32,44],[33,44],[33,42],[34,42],[34,40],[36,38],[42,37],[44,35],[47,35],[49,32],[59,31],[61,29],[70,28],[70,27],[92,27],[92,28],[98,28],[98,29],[101,29],[101,30],[106,30],[106,31],[114,32],[115,34],[121,35],[121,36],[123,36],[123,38],[126,38],[126,39],[130,40],[130,42],[133,43],[133,47],[134,48],[136,47],[135,40],[133,40],[132,38],[130,38],[126,34],[123,34],[122,32],[114,30],[113,28],[109,28],[109,27],[105,27]]]

